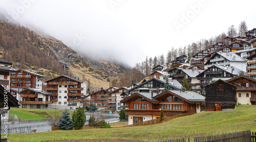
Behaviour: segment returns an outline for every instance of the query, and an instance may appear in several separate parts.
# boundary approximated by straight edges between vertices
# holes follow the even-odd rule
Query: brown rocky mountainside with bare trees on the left
[[[61,41],[17,25],[0,14],[0,59],[17,69],[37,71],[48,78],[66,74],[87,82],[90,90],[108,88],[125,70],[113,63],[78,55]]]

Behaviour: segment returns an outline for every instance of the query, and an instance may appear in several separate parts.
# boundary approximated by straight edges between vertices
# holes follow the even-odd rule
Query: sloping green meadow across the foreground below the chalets
[[[132,139],[152,141],[221,134],[248,129],[256,131],[255,120],[256,106],[241,105],[237,109],[230,111],[203,111],[195,115],[150,126],[10,134],[8,138],[12,141],[45,141],[54,139]]]

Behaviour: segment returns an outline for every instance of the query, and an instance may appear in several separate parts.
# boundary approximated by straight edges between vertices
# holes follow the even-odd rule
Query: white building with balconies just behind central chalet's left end
[[[110,92],[109,95],[109,109],[114,111],[120,111],[124,105],[120,103],[122,100],[122,96],[120,96],[122,93],[124,93],[125,90],[128,90],[127,88],[119,88],[117,90],[114,90]]]

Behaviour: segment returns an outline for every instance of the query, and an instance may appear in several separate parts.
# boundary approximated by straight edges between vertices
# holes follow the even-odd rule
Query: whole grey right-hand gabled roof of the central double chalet
[[[170,95],[174,95],[182,100],[185,100],[188,103],[191,102],[204,102],[205,97],[194,92],[194,91],[177,91],[177,90],[167,90],[161,94],[158,94],[157,96],[153,97],[154,99],[158,99],[161,98],[162,96],[166,95],[166,94],[170,94]]]

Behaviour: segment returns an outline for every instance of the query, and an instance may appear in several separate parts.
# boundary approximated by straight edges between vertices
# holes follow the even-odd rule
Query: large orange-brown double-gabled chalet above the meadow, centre
[[[129,115],[129,125],[160,117],[163,108],[164,116],[175,116],[180,113],[197,113],[203,110],[205,97],[190,91],[165,91],[160,94],[135,93],[121,103],[127,103],[125,115]]]

